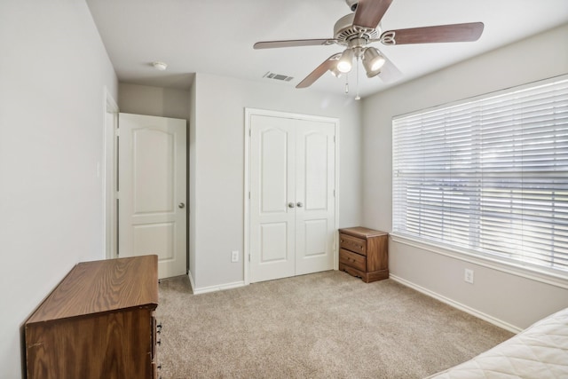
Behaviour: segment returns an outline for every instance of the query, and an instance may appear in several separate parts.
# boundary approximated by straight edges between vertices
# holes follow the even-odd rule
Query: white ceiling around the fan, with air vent
[[[268,81],[270,71],[294,76],[294,87],[339,45],[253,50],[257,41],[331,38],[335,21],[351,12],[344,0],[87,0],[106,51],[123,83],[188,89],[194,73]],[[568,22],[567,0],[393,0],[383,30],[482,21],[473,43],[384,46],[375,43],[402,72],[398,82],[368,79],[359,67],[359,92],[452,65],[504,44]],[[568,41],[566,42],[568,43]],[[530,53],[530,51],[527,51]],[[169,66],[157,71],[151,63]],[[514,64],[515,62],[511,62]],[[354,71],[352,71],[354,73]],[[355,75],[350,74],[350,96]],[[343,93],[345,79],[324,75],[309,89]]]

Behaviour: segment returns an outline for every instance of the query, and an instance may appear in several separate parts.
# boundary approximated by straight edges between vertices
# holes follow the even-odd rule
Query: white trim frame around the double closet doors
[[[280,118],[291,118],[296,120],[304,121],[315,121],[315,122],[331,122],[335,126],[335,215],[334,215],[334,228],[337,230],[339,227],[339,119],[333,117],[324,117],[312,114],[296,114],[280,111],[272,111],[267,109],[249,108],[245,107],[245,128],[244,128],[244,139],[245,139],[245,172],[244,172],[244,235],[243,235],[243,268],[244,268],[244,285],[250,284],[249,275],[249,265],[250,265],[250,137],[251,137],[251,126],[250,120],[253,115],[265,115]],[[334,270],[338,269],[337,261],[337,241],[335,239],[334,243]]]

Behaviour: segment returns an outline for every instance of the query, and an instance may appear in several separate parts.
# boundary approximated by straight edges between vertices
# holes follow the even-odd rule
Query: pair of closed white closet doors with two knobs
[[[335,123],[251,115],[249,281],[334,268]]]

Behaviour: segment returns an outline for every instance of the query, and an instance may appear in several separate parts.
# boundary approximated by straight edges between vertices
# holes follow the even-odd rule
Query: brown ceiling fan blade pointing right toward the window
[[[483,33],[483,22],[438,25],[436,27],[388,30],[381,35],[384,44],[445,43],[477,41]]]

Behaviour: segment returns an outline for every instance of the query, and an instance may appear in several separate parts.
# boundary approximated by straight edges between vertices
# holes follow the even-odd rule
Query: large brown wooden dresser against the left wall
[[[76,265],[24,327],[28,379],[156,378],[157,256]]]

